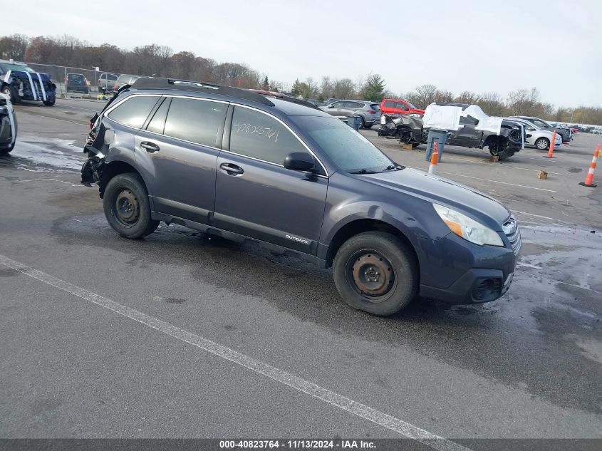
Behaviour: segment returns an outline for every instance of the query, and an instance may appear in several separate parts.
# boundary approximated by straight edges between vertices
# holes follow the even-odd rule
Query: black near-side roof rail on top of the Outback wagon
[[[134,89],[170,89],[170,90],[185,90],[194,91],[197,93],[216,93],[221,95],[229,95],[230,97],[243,98],[253,102],[261,103],[261,105],[274,106],[270,100],[263,95],[254,93],[250,90],[241,88],[231,88],[230,86],[214,85],[213,83],[203,83],[200,81],[177,80],[174,78],[138,78],[132,83]]]

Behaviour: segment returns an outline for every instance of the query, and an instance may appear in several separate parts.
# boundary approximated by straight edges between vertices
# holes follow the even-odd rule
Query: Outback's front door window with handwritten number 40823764
[[[284,165],[291,152],[307,153],[299,138],[278,120],[238,106],[232,116],[230,151],[277,165]]]

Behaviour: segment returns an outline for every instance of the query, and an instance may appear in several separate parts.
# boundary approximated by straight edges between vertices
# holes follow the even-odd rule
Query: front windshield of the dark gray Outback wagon
[[[290,116],[332,162],[346,172],[383,172],[395,168],[378,147],[337,118]]]

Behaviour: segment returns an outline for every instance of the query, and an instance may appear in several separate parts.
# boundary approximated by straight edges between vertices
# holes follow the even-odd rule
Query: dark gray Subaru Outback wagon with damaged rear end
[[[82,181],[123,237],[163,221],[259,242],[333,266],[356,309],[493,301],[512,282],[521,240],[502,204],[398,165],[301,100],[140,78],[93,118],[84,152]]]

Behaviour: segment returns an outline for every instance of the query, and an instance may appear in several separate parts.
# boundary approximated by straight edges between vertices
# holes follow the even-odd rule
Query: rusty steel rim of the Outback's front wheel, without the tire
[[[397,283],[389,259],[373,249],[353,254],[346,266],[346,276],[353,290],[373,304],[388,299]]]

